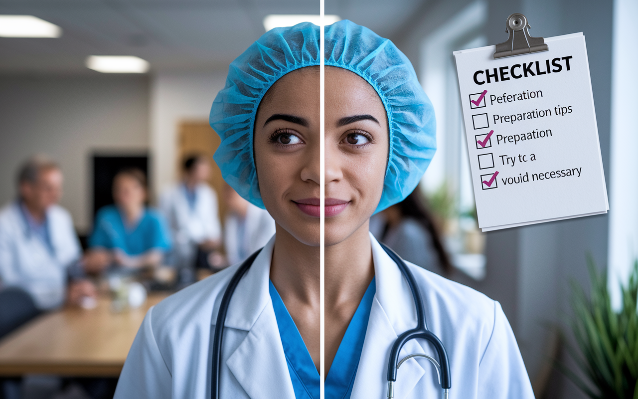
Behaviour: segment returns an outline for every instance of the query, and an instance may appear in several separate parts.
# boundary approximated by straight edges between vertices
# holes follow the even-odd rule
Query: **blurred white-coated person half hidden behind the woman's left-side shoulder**
[[[228,264],[242,262],[275,234],[275,221],[268,211],[243,199],[225,184],[224,198],[228,211],[224,224],[224,248]]]

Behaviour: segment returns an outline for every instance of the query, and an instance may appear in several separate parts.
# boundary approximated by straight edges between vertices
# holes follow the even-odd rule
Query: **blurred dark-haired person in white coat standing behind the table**
[[[221,225],[217,193],[207,183],[209,159],[202,154],[186,156],[182,173],[182,181],[161,195],[159,207],[172,233],[180,280],[188,282],[193,280],[196,264],[208,267],[209,253],[221,246]]]

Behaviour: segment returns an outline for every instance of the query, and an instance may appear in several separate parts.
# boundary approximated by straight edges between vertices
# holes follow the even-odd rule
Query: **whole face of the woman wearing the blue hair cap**
[[[319,94],[318,68],[290,72],[271,87],[255,121],[263,203],[307,245],[320,239]],[[325,245],[366,225],[381,199],[388,149],[385,108],[375,89],[353,72],[326,67]]]

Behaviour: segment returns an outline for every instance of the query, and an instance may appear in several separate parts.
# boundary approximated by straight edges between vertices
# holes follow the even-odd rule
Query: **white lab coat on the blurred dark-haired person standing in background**
[[[186,199],[184,184],[165,191],[159,200],[159,209],[168,220],[178,259],[189,264],[197,253],[197,245],[207,239],[221,238],[217,195],[206,183],[195,188],[195,207]]]

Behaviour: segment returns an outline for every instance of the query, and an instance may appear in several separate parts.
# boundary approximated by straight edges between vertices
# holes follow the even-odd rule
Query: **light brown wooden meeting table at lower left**
[[[146,311],[167,295],[150,294],[140,308],[121,313],[103,297],[91,310],[41,315],[0,340],[0,376],[117,377]]]

